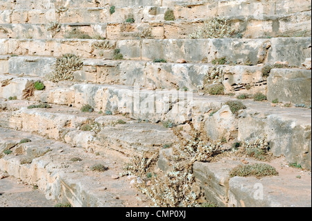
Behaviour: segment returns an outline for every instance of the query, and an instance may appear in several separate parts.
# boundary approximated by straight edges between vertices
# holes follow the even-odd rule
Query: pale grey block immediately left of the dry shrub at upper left
[[[51,73],[51,66],[55,60],[55,58],[12,57],[8,62],[8,71],[10,74],[46,77]]]

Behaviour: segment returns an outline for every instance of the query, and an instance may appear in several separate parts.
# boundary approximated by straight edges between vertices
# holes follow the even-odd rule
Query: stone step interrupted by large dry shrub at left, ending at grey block
[[[46,80],[52,73],[55,61],[56,58],[49,57],[3,56],[0,58],[2,64],[0,73],[5,75],[0,78],[5,80],[16,78],[18,75]],[[73,72],[73,81],[197,91],[199,87],[205,85],[205,78],[213,69],[220,72],[218,80],[223,82],[225,94],[254,94],[257,91],[266,94],[266,78],[262,76],[263,67],[246,65],[84,59],[83,68]],[[246,85],[250,85],[248,91],[245,89]]]

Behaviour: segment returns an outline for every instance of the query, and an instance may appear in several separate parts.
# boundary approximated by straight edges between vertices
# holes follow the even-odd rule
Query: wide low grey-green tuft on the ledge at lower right
[[[266,163],[254,163],[251,165],[239,165],[231,170],[230,177],[257,177],[277,176],[277,170]]]

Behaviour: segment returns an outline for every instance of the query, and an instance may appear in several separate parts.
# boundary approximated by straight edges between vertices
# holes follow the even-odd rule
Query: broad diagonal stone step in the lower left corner
[[[28,138],[28,143],[20,143]],[[14,144],[14,146],[12,146]],[[12,153],[3,154],[3,150]],[[37,186],[49,200],[69,202],[75,207],[148,206],[148,199],[130,187],[122,163],[83,148],[44,139],[27,132],[0,127],[0,170],[23,182]],[[73,159],[78,159],[75,161]],[[93,171],[101,163],[108,169]],[[141,197],[142,200],[138,200]]]

